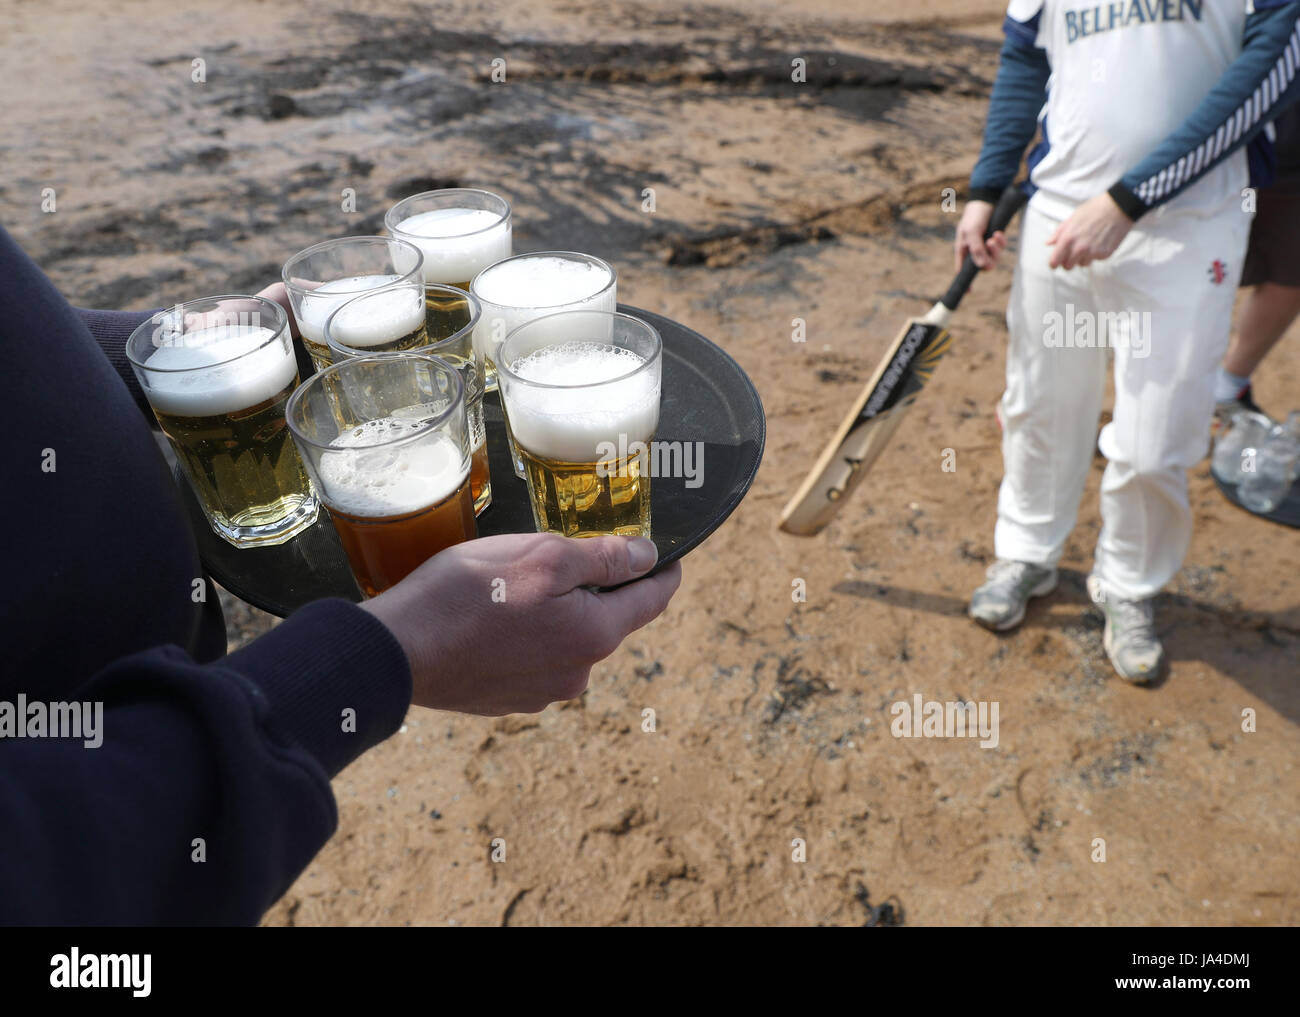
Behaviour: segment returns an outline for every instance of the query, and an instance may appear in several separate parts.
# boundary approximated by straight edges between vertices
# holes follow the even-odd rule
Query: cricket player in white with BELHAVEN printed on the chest
[[[1088,592],[1135,683],[1164,667],[1152,598],[1191,540],[1187,471],[1209,445],[1261,131],[1297,94],[1297,17],[1283,0],[1011,0],[1004,23],[958,261],[996,263],[992,203],[1039,140],[1006,312],[997,561],[970,614],[1006,631],[1056,587],[1113,355]]]

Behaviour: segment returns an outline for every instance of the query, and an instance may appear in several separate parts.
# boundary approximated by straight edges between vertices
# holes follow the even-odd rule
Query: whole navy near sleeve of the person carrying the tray
[[[103,702],[98,748],[0,740],[5,923],[255,925],[334,832],[329,778],[396,730],[411,679],[381,622],[320,601],[214,665],[161,646],[73,694]]]

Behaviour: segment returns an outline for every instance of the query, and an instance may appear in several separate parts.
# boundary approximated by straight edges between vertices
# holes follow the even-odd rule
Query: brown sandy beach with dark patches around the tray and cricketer
[[[517,252],[607,259],[623,302],[723,346],[766,407],[757,481],[667,614],[542,714],[412,709],[337,778],[339,830],[266,925],[1300,921],[1295,529],[1197,466],[1191,551],[1157,606],[1170,675],[1127,685],[1084,590],[1098,456],[1057,592],[1006,636],[965,615],[993,555],[1009,271],[976,282],[870,488],[816,538],[776,529],[900,323],[948,284],[944,196],[979,151],[1004,10],[0,9],[0,221],[73,303],[255,291],[308,244],[381,231],[402,196],[486,187]],[[1256,377],[1280,414],[1300,404],[1297,333]],[[274,623],[225,603],[231,648]],[[996,701],[997,745],[894,737],[890,706],[915,694]]]

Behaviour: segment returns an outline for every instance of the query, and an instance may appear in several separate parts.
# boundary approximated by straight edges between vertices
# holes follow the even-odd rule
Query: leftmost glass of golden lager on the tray
[[[131,368],[212,529],[237,548],[283,544],[317,503],[285,427],[298,386],[289,317],[261,297],[209,297],[151,316]]]

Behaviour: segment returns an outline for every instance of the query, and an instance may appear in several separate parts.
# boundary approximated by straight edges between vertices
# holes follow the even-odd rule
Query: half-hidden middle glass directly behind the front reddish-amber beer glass
[[[484,424],[482,358],[474,354],[478,302],[455,286],[416,282],[420,329],[412,332],[407,284],[394,284],[354,297],[325,323],[325,341],[334,363],[369,352],[406,350],[441,356],[465,382],[465,414],[473,449],[469,488],[474,515],[491,505],[488,429]]]

